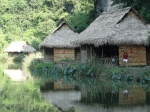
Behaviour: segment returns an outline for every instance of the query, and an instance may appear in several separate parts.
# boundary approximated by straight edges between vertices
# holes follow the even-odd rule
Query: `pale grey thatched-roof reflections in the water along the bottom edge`
[[[52,102],[62,110],[74,107],[75,112],[150,112],[148,105],[106,105],[98,103],[81,103],[80,91],[48,91],[43,93],[48,102]]]

